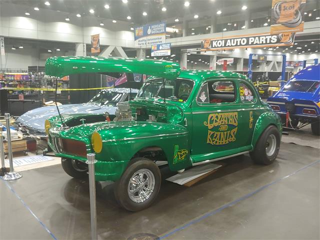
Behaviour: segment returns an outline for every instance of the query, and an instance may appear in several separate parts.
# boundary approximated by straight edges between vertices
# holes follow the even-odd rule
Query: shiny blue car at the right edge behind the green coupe
[[[310,123],[312,133],[320,135],[320,64],[293,75],[267,103],[280,115],[284,127],[298,129]]]

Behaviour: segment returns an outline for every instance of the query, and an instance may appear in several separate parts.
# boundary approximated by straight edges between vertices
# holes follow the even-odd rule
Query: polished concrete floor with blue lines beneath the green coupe
[[[281,143],[271,165],[248,155],[224,162],[191,187],[163,180],[155,203],[140,212],[120,208],[113,185],[97,183],[98,238],[319,239],[320,149]],[[0,239],[90,238],[87,181],[60,165],[22,174],[0,180]]]

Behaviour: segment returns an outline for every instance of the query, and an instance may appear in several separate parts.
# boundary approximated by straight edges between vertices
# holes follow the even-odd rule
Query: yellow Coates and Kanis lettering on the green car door
[[[206,143],[224,145],[235,141],[238,125],[237,112],[211,113],[203,124],[208,127]]]

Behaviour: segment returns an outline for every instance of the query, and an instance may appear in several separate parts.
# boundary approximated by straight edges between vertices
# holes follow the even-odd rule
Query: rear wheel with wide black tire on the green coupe
[[[250,152],[250,156],[255,163],[268,165],[276,158],[279,147],[280,132],[275,126],[271,125],[263,131],[254,150]]]

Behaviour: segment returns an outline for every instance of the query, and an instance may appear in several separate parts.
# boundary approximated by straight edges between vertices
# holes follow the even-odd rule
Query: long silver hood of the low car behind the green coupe
[[[76,114],[76,113],[104,113],[115,114],[115,106],[100,106],[92,103],[82,104],[65,104],[60,105],[59,111],[61,114]],[[26,126],[32,131],[45,134],[44,121],[52,116],[57,115],[56,106],[43,106],[25,112],[17,118],[17,122]]]

